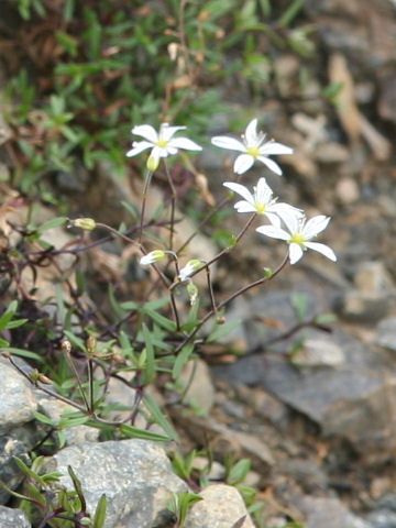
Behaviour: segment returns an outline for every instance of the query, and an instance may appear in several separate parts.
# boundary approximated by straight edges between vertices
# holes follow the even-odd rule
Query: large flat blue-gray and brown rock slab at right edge
[[[396,375],[385,356],[341,330],[330,339],[345,358],[337,369],[298,370],[283,356],[261,354],[217,367],[215,372],[229,381],[261,384],[319,424],[326,436],[346,438],[372,461],[386,458],[396,447],[396,424],[389,418],[391,403],[396,397]]]

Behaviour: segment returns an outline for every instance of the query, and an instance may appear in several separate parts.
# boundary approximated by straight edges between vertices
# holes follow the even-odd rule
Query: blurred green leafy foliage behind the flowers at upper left
[[[219,80],[265,86],[277,48],[312,52],[311,29],[296,24],[302,3],[294,0],[280,12],[270,0],[103,0],[77,12],[74,0],[62,0],[50,16],[42,0],[15,0],[28,35],[37,16],[47,21],[56,55],[47,57],[45,79],[40,51],[30,55],[29,73],[23,52],[15,57],[20,64],[6,90],[6,118],[15,130],[10,142],[20,154],[13,182],[37,195],[43,178],[70,173],[76,158],[88,169],[107,162],[123,174],[131,122],[153,116],[154,125],[180,122],[193,136],[207,130],[221,111],[212,88]]]

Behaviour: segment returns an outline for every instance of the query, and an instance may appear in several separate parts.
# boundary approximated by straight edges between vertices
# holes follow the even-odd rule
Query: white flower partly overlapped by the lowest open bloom
[[[268,186],[265,178],[258,179],[257,186],[253,187],[253,194],[244,185],[234,184],[233,182],[226,182],[223,186],[244,198],[244,200],[237,201],[234,205],[238,212],[265,215],[274,226],[280,227],[279,219],[283,218],[284,213],[287,215],[287,211],[289,215],[301,213],[299,209],[296,209],[288,204],[277,204],[276,199],[273,199],[272,188]]]

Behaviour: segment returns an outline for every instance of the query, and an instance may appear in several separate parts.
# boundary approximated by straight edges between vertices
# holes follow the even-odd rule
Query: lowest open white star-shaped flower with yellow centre
[[[331,248],[318,242],[310,242],[311,239],[327,228],[330,217],[318,215],[307,221],[305,217],[298,215],[284,215],[283,221],[287,231],[275,226],[262,226],[256,231],[273,239],[285,240],[289,244],[290,264],[298,262],[307,249],[321,253],[330,261],[337,261],[337,256]]]

